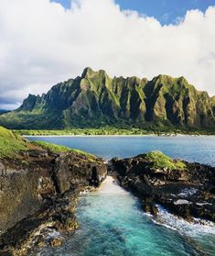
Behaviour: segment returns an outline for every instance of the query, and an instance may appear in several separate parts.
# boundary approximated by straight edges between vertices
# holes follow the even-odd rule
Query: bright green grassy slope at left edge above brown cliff
[[[16,158],[20,150],[27,150],[27,142],[12,131],[0,127],[0,159]]]

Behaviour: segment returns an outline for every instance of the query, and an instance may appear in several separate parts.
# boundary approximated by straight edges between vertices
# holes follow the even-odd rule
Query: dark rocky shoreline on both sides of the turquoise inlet
[[[103,161],[79,152],[29,149],[17,159],[0,160],[0,255],[28,255],[30,249],[60,246],[60,237],[79,227],[75,208],[82,192],[94,190],[106,175],[139,197],[143,210],[157,205],[187,221],[215,222],[215,168],[174,161],[161,152]]]

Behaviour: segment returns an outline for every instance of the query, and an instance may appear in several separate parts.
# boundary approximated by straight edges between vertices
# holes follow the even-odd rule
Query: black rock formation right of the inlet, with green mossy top
[[[215,168],[172,161],[161,152],[131,159],[113,159],[121,185],[137,195],[146,212],[156,205],[190,221],[199,217],[215,222]]]

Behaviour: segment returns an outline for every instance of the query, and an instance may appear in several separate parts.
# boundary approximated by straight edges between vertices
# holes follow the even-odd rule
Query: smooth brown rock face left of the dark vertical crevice
[[[46,163],[46,164],[45,164]],[[54,194],[49,161],[43,166],[31,162],[25,169],[19,161],[2,161],[0,175],[0,229],[2,233],[43,206],[43,198]],[[1,173],[1,170],[0,170]],[[48,182],[47,185],[42,181]]]

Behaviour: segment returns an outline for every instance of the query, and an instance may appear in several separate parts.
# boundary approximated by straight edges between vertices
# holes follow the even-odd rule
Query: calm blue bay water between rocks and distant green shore
[[[215,136],[103,136],[103,137],[27,137],[73,149],[85,150],[105,159],[126,158],[151,150],[161,150],[170,157],[199,161],[215,166]]]

